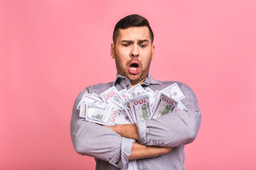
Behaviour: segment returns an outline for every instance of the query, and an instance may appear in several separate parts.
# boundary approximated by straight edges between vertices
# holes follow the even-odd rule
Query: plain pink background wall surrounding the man
[[[151,75],[195,91],[203,120],[186,169],[256,169],[255,1],[0,1],[0,169],[94,169],[70,139],[73,102],[113,81],[114,24],[154,30]]]

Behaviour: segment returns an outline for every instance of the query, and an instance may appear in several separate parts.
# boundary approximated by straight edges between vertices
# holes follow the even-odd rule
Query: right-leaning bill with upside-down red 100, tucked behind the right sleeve
[[[151,118],[159,118],[162,115],[166,115],[174,111],[174,108],[177,106],[178,102],[174,99],[166,96],[165,94],[161,94],[159,101],[157,102],[156,109],[154,113],[151,115]]]

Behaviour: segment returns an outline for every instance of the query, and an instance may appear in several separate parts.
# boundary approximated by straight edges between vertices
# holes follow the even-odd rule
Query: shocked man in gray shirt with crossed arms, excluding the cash
[[[177,81],[157,81],[149,75],[154,59],[154,34],[149,22],[139,15],[122,18],[114,28],[110,53],[117,67],[114,82],[88,86],[76,98],[70,123],[75,150],[95,157],[96,169],[184,169],[184,145],[193,142],[201,113],[193,91]],[[186,111],[127,125],[98,125],[79,117],[76,109],[82,95],[101,94],[111,86],[117,90],[141,84],[153,91],[178,84],[186,98]],[[130,161],[136,160],[136,161]]]

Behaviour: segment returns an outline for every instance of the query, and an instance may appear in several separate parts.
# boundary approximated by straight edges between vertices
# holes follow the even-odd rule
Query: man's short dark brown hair
[[[146,26],[149,28],[149,36],[151,39],[151,43],[153,43],[154,40],[154,34],[153,31],[151,30],[151,27],[149,26],[149,21],[146,20],[146,18],[139,16],[138,14],[133,14],[126,16],[122,18],[116,26],[114,26],[114,32],[113,32],[113,42],[115,43],[117,40],[117,37],[119,35],[119,30],[118,29],[126,29],[130,27],[142,27]]]

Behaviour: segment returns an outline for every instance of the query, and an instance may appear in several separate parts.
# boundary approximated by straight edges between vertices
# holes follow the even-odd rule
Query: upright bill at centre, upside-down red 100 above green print
[[[138,120],[149,120],[151,116],[149,96],[137,96],[132,98],[132,111],[135,113],[135,119]]]

